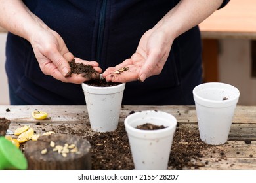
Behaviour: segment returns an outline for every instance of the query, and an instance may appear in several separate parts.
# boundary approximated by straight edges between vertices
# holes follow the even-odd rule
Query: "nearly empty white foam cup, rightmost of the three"
[[[228,135],[240,92],[221,82],[208,82],[193,90],[200,139],[206,144],[221,145]]]

